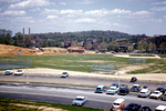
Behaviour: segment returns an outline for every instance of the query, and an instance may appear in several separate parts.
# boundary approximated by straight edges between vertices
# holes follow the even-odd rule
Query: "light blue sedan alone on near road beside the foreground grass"
[[[72,105],[83,105],[87,101],[87,97],[77,95],[73,101]]]

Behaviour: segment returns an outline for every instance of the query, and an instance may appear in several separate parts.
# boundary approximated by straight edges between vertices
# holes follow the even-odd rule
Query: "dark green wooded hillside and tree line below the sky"
[[[39,37],[40,41],[33,43],[33,37]],[[104,37],[104,42],[103,42]],[[123,42],[117,42],[123,40]],[[0,43],[17,47],[65,47],[65,41],[71,41],[71,46],[83,46],[87,50],[106,49],[108,51],[132,52],[166,52],[166,36],[148,38],[146,34],[128,34],[118,31],[80,31],[80,32],[49,32],[31,33],[31,38],[21,32],[12,37],[11,30],[0,29]],[[82,43],[82,44],[81,44]],[[122,44],[125,44],[122,47]]]

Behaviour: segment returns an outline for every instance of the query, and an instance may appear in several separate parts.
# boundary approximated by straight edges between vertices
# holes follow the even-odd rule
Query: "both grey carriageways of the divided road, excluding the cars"
[[[0,81],[24,81],[25,75],[3,75],[0,74]],[[81,77],[69,77],[60,78],[58,75],[30,75],[30,82],[46,82],[48,83],[59,83],[59,84],[72,84],[72,85],[87,85],[96,87],[97,84],[104,84],[108,87],[113,82],[117,82],[114,79],[100,79],[100,78],[81,78]],[[121,83],[126,83],[129,88],[133,83],[127,80],[121,80]],[[148,85],[153,91],[157,87],[166,88],[165,83],[159,82],[147,82],[138,81],[138,84]],[[87,97],[87,102],[85,107],[97,108],[110,110],[111,104],[117,98],[125,99],[125,103],[131,102],[139,103],[142,105],[148,105],[153,110],[159,105],[166,105],[165,101],[149,99],[149,98],[137,98],[137,93],[129,93],[128,95],[110,95],[104,93],[94,93],[93,88],[75,88],[75,87],[58,87],[58,85],[37,85],[37,84],[22,84],[22,83],[0,83],[0,97],[2,98],[13,98],[13,99],[25,99],[25,100],[35,100],[35,101],[46,101],[46,102],[56,102],[56,103],[66,103],[71,104],[72,100],[76,95]]]

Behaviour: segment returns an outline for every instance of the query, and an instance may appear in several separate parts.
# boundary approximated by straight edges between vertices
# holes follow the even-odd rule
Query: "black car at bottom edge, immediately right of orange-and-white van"
[[[141,104],[129,103],[123,111],[139,111],[142,108]]]

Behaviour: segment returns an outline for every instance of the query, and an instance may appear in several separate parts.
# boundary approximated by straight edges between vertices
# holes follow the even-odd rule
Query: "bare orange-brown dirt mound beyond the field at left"
[[[31,49],[31,48],[20,48],[14,46],[0,44],[0,56],[40,56],[40,54],[58,54],[66,53],[66,49],[62,48],[43,48]]]

